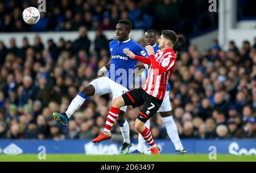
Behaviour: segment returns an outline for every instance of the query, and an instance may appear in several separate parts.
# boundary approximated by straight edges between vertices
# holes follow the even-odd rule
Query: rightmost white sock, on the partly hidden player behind
[[[168,136],[170,137],[172,143],[174,143],[175,149],[183,150],[184,147],[180,142],[180,137],[177,132],[177,126],[172,116],[162,117],[162,120],[163,120],[164,126],[166,126],[166,132]]]

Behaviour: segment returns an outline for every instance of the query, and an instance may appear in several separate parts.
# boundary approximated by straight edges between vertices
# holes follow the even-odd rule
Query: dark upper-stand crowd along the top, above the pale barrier
[[[0,1],[0,31],[77,31],[80,26],[110,30],[119,19],[129,18],[134,29],[162,31],[171,27],[189,34],[217,26],[216,13],[209,13],[208,9],[202,12],[207,4],[204,0],[46,1],[46,12],[41,12],[38,24],[29,26],[22,21],[22,9],[38,6],[38,1]]]

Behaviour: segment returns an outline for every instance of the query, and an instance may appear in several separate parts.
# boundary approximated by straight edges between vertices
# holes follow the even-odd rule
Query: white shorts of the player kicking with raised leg
[[[125,94],[128,89],[118,83],[115,83],[108,77],[97,78],[94,81],[90,82],[89,85],[92,85],[95,88],[94,95],[104,95],[112,93],[113,99],[118,98],[119,96]],[[127,106],[121,107],[121,111],[126,111]]]

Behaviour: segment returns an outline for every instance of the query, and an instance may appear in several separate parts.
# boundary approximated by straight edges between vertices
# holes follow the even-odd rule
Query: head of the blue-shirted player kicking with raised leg
[[[118,41],[125,41],[129,38],[131,32],[131,22],[127,19],[122,19],[118,21],[117,26],[115,27],[115,34],[117,35]]]

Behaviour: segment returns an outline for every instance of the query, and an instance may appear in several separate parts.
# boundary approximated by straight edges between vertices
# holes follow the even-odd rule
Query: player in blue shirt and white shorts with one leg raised
[[[114,99],[129,91],[130,82],[133,81],[131,71],[134,70],[138,61],[127,57],[126,54],[123,53],[123,49],[130,49],[135,54],[143,56],[146,53],[140,44],[129,39],[131,32],[131,22],[129,20],[119,20],[115,29],[117,40],[113,40],[109,43],[112,59],[107,65],[100,69],[100,78],[95,79],[90,82],[88,86],[82,88],[82,91],[72,100],[66,112],[53,112],[53,117],[57,121],[67,125],[73,113],[81,107],[89,96],[112,93]],[[108,76],[105,77],[107,73]],[[121,111],[118,113],[119,118],[117,119],[123,136],[123,146],[120,154],[127,154],[131,147],[129,124],[124,118],[125,111],[126,106],[121,107]],[[111,137],[111,134],[109,134],[108,138]]]

